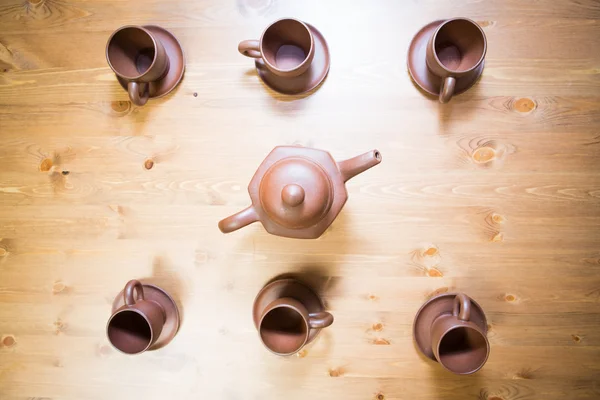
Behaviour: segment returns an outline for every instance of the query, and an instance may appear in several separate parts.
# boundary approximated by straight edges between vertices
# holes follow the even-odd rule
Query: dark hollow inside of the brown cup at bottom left
[[[152,342],[150,324],[133,310],[114,315],[108,323],[107,334],[111,344],[127,354],[141,353]]]

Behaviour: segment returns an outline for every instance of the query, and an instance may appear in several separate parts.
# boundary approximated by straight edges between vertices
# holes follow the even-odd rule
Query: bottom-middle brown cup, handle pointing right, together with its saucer
[[[279,279],[256,296],[252,318],[265,347],[277,355],[292,355],[333,323],[319,296],[295,279]]]

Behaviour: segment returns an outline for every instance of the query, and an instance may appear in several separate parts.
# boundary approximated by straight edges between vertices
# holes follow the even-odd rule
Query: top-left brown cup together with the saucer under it
[[[181,45],[173,34],[155,25],[119,28],[108,40],[106,58],[139,106],[172,91],[185,70]]]

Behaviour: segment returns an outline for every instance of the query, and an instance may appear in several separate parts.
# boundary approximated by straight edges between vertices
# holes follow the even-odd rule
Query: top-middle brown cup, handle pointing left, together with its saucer
[[[245,40],[238,50],[256,59],[260,78],[280,93],[308,92],[329,72],[329,48],[321,32],[291,18],[274,22],[260,40]]]

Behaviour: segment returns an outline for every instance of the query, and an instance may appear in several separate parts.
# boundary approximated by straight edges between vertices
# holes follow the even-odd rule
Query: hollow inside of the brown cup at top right
[[[485,55],[485,37],[472,21],[458,19],[447,22],[435,38],[435,54],[452,72],[465,72],[479,64]]]

